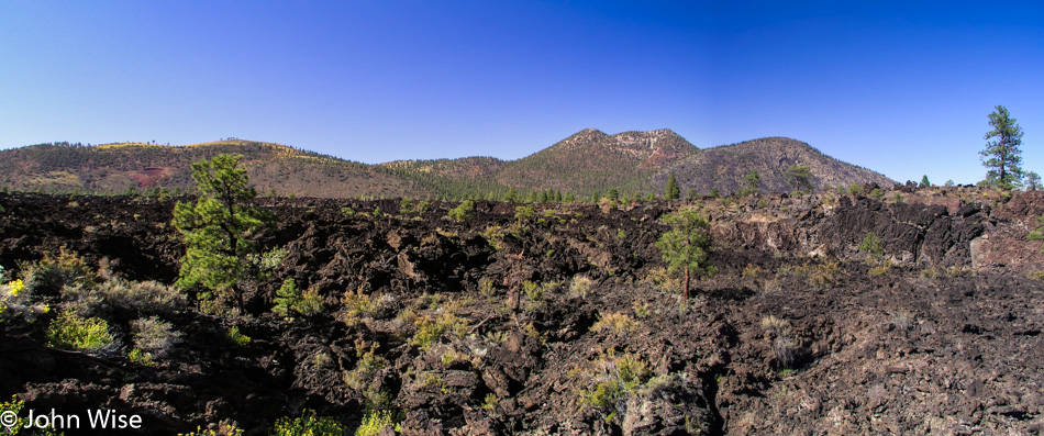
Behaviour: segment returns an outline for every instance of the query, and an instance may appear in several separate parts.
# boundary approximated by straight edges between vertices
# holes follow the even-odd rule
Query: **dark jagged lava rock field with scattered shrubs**
[[[1026,235],[1044,194],[881,198],[523,216],[478,202],[464,222],[449,203],[265,200],[280,261],[232,315],[168,286],[173,202],[0,194],[4,281],[63,247],[84,272],[24,277],[21,315],[0,317],[0,401],[138,414],[125,432],[141,434],[234,421],[263,435],[306,409],[346,432],[386,411],[411,435],[1040,434],[1044,255]],[[687,301],[654,246],[678,208],[710,219],[719,269]],[[322,310],[273,314],[288,278]],[[115,344],[51,347],[66,310],[105,320]],[[178,340],[129,356],[152,316]]]

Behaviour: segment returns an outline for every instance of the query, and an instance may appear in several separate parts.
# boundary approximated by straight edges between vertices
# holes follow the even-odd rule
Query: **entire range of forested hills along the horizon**
[[[191,164],[218,154],[243,155],[263,193],[299,197],[440,195],[501,199],[555,189],[579,199],[617,188],[621,194],[662,193],[670,172],[682,190],[733,192],[755,169],[762,190],[789,191],[786,171],[808,165],[817,187],[892,180],[823,155],[806,143],[768,137],[700,150],[669,130],[608,135],[588,128],[517,160],[493,157],[399,160],[366,165],[273,143],[240,139],[186,146],[40,144],[0,150],[0,187],[46,192],[123,192],[127,188],[188,189]],[[524,198],[524,197],[523,197]]]

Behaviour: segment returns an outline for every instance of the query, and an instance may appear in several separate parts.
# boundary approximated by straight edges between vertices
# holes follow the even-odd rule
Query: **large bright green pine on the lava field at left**
[[[201,297],[218,297],[243,309],[243,282],[259,272],[257,236],[275,217],[245,205],[257,197],[240,156],[218,155],[192,164],[196,203],[178,202],[174,226],[185,241],[177,287],[201,287]]]

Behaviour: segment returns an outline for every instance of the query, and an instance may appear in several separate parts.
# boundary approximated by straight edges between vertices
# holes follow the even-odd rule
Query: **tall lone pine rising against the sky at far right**
[[[993,130],[986,133],[986,149],[979,152],[987,168],[986,182],[1006,190],[1018,188],[1022,179],[1022,127],[1002,105],[989,114],[989,120]]]

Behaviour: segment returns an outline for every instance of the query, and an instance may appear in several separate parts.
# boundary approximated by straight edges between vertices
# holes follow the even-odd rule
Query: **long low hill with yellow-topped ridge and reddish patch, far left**
[[[18,190],[123,192],[193,186],[191,165],[222,153],[243,156],[262,193],[345,198],[417,194],[415,183],[368,165],[271,143],[222,141],[187,146],[40,144],[0,152],[0,186]]]

